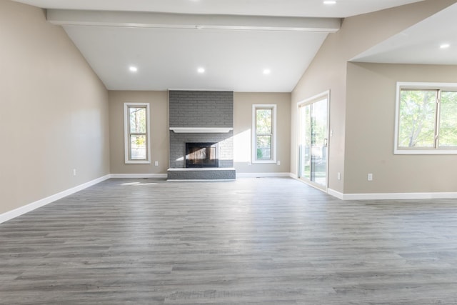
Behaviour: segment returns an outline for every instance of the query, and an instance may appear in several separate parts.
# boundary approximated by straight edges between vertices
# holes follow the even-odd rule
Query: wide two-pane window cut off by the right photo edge
[[[395,154],[457,154],[457,84],[397,83]]]

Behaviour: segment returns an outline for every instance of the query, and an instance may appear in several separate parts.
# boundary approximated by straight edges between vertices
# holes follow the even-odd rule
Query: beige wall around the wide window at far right
[[[393,154],[397,81],[456,82],[457,66],[348,64],[345,193],[457,191],[457,155]]]

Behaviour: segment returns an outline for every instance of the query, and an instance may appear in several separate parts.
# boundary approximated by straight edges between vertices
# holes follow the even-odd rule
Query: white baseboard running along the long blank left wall
[[[40,199],[37,201],[32,202],[31,204],[26,204],[25,206],[20,206],[17,209],[7,211],[4,214],[0,214],[0,224],[4,223],[5,221],[9,221],[10,219],[14,219],[17,216],[21,216],[23,214],[28,213],[29,211],[33,211],[34,209],[38,209],[41,206],[46,206],[46,204],[50,204],[51,202],[54,202],[56,200],[59,200],[61,198],[64,198],[65,196],[69,196],[71,194],[76,193],[77,191],[82,191],[83,189],[88,188],[89,186],[93,186],[95,184],[98,184],[102,181],[105,181],[107,179],[110,179],[111,175],[106,175],[103,177],[100,177],[98,179],[94,179],[92,181],[86,182],[85,184],[81,184],[79,186],[72,187],[71,189],[67,189],[66,191],[61,191],[57,194],[51,195],[49,197],[46,197],[44,199]]]

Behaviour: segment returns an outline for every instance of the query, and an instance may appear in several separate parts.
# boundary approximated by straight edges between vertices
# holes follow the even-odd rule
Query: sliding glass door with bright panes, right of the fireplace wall
[[[298,106],[298,177],[327,188],[328,93]]]

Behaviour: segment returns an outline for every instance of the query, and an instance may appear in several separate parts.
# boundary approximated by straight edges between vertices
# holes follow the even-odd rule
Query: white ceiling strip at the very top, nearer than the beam
[[[160,11],[181,14],[348,17],[421,0],[16,0],[46,9],[100,11]]]

